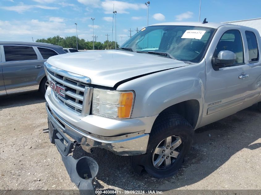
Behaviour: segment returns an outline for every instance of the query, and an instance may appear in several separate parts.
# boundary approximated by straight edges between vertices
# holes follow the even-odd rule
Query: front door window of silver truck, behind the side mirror
[[[222,50],[232,51],[236,55],[234,64],[244,63],[243,42],[239,30],[227,30],[219,40],[214,57]]]

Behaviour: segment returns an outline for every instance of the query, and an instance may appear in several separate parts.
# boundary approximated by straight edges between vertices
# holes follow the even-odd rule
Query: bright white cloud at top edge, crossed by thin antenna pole
[[[112,14],[113,4],[114,4],[114,10],[116,10],[117,13],[119,13],[119,14],[129,14],[129,12],[127,10],[146,9],[145,4],[105,0],[105,1],[101,2],[101,6],[102,6],[105,14]]]

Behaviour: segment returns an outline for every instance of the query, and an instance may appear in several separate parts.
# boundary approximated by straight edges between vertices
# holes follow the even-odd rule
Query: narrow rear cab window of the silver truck
[[[255,34],[250,31],[246,31],[246,41],[248,47],[249,62],[255,62],[259,60],[259,51],[257,47],[257,40]]]

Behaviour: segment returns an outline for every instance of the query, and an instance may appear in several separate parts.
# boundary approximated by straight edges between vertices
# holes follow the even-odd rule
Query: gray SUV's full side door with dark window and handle
[[[27,45],[2,45],[2,70],[6,93],[37,90],[43,62],[36,48]]]

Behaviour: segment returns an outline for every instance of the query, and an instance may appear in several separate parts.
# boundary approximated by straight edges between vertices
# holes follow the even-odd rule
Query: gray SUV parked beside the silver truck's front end
[[[48,87],[44,62],[65,54],[60,46],[48,43],[0,41],[0,96]]]

